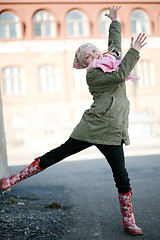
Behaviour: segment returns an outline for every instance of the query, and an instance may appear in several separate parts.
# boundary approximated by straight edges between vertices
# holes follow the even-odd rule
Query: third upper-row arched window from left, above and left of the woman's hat
[[[84,13],[72,10],[67,14],[67,35],[72,37],[88,36],[88,20]]]

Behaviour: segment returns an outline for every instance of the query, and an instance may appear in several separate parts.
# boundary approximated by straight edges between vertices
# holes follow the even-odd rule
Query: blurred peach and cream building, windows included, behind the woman
[[[123,56],[131,36],[148,36],[134,69],[140,80],[126,83],[131,143],[148,141],[160,149],[160,1],[1,0],[0,90],[9,163],[63,143],[90,107],[86,70],[72,68],[74,54],[84,42],[107,49],[105,13],[119,3]]]

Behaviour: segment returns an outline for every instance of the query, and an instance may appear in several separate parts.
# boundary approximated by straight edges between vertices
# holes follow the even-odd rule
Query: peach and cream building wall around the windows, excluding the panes
[[[131,128],[136,128],[137,124],[149,126],[147,136],[157,136],[160,135],[160,113],[157,111],[160,103],[160,2],[136,0],[116,2],[117,4],[120,2],[122,6],[119,20],[122,23],[123,55],[130,46],[131,12],[141,9],[149,17],[151,31],[148,34],[148,44],[141,51],[141,59],[152,62],[155,85],[139,87],[128,82],[127,90],[131,102]],[[99,34],[98,16],[102,10],[113,4],[112,1],[106,3],[94,0],[1,1],[1,13],[3,11],[15,13],[19,17],[21,29],[19,39],[0,39],[0,86],[9,149],[22,145],[53,145],[54,141],[57,143],[69,136],[83,111],[92,103],[87,87],[75,90],[72,70],[74,53],[84,42],[92,42],[102,51],[107,49],[108,38]],[[66,15],[73,9],[78,9],[87,16],[89,25],[87,37],[67,36]],[[38,10],[47,10],[54,16],[55,37],[34,37],[32,17]],[[59,67],[60,91],[46,94],[40,92],[37,68],[43,64]],[[6,95],[3,92],[2,69],[13,65],[24,70],[26,92],[23,95]],[[145,127],[141,137],[144,136]]]

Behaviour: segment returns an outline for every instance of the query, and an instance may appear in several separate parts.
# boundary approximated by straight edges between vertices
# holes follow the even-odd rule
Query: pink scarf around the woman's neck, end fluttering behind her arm
[[[114,72],[118,71],[118,67],[121,64],[122,60],[116,60],[116,58],[106,53],[103,58],[101,59],[94,59],[87,67],[87,72],[91,68],[101,68],[104,73],[108,72]],[[139,80],[139,77],[134,76],[132,73],[129,74],[126,80],[132,80],[134,83],[136,83],[137,80]]]

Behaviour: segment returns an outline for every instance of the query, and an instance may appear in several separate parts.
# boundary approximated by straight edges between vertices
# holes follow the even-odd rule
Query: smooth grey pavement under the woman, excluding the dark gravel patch
[[[34,192],[42,200],[56,199],[69,205],[68,217],[63,223],[67,231],[61,240],[159,240],[160,155],[127,157],[126,166],[133,187],[136,222],[142,227],[142,236],[124,233],[117,190],[110,167],[102,158],[62,161],[15,185],[12,191],[21,194],[26,189],[28,194]],[[21,166],[10,167],[11,172],[19,169]],[[54,196],[55,187],[63,192]]]

